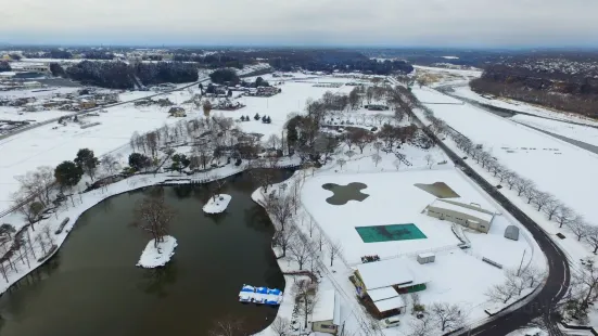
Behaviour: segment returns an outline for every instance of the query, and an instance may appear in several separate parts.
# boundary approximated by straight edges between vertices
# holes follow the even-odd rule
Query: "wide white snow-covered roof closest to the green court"
[[[393,285],[415,286],[430,282],[422,267],[405,258],[361,263],[357,266],[367,290]]]

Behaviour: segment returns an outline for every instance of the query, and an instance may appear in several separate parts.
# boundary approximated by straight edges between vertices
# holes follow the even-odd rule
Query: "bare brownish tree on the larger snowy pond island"
[[[157,248],[157,243],[164,242],[164,236],[168,233],[168,225],[175,217],[175,210],[164,202],[164,194],[160,192],[157,196],[143,198],[137,205],[136,214],[139,221],[135,224],[152,234],[154,247]]]

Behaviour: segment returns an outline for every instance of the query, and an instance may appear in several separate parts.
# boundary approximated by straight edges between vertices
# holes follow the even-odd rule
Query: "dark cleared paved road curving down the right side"
[[[413,116],[413,118],[422,126],[421,120],[419,120],[417,116]],[[423,126],[422,128],[456,165],[462,167],[462,170],[473,181],[532,233],[534,240],[538,243],[548,260],[549,272],[546,285],[536,297],[517,310],[498,314],[495,320],[468,331],[467,335],[505,336],[508,333],[527,325],[532,320],[537,318],[544,320],[551,336],[562,335],[556,325],[555,306],[569,288],[570,269],[567,256],[536,222],[499,193],[494,185],[476,173],[466,160],[453,152],[453,150],[444,144],[432,131]]]

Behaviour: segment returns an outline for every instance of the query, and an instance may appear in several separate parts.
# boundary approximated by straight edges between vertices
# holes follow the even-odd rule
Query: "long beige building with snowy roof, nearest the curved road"
[[[494,212],[483,209],[476,204],[466,204],[455,201],[436,198],[428,207],[428,216],[448,220],[456,224],[487,233]]]

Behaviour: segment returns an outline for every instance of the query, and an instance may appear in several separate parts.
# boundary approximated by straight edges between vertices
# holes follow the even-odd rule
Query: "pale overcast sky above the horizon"
[[[0,0],[0,42],[598,47],[597,0]]]

